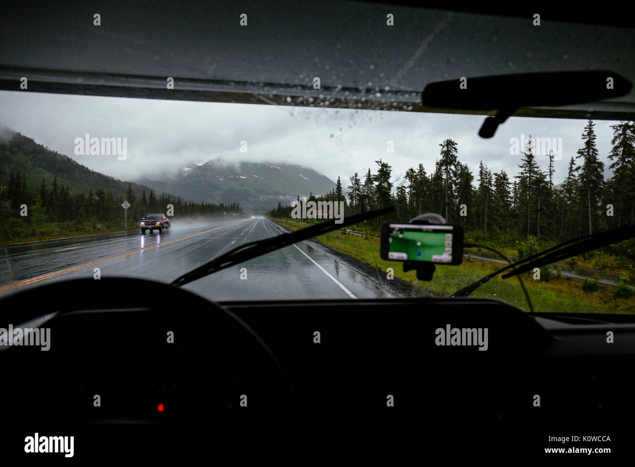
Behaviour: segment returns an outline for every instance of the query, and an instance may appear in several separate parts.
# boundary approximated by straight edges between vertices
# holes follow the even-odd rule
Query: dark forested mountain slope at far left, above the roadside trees
[[[42,179],[51,186],[57,176],[58,186],[69,186],[70,194],[93,193],[98,189],[112,191],[113,196],[126,196],[128,182],[95,172],[73,159],[51,151],[21,133],[6,128],[0,129],[0,186],[8,186],[11,172],[22,172],[27,179],[27,188],[38,188]],[[143,190],[150,193],[150,187],[131,184],[135,196],[141,197]],[[161,193],[161,192],[159,192]],[[166,192],[167,193],[167,192]],[[175,197],[171,195],[172,197]]]

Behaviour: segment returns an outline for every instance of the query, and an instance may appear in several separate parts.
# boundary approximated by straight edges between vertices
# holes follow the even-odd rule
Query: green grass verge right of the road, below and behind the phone
[[[303,224],[271,219],[277,224],[292,231],[301,229]],[[401,262],[386,261],[379,257],[380,242],[376,238],[370,240],[362,236],[330,232],[317,237],[317,240],[333,247],[338,252],[368,262],[371,266],[380,267],[384,271],[392,267],[394,276],[417,287],[441,295],[451,295],[460,288],[479,280],[483,276],[500,269],[501,264],[464,259],[459,266],[437,265],[432,281],[417,280],[415,271],[403,272]],[[556,279],[552,274],[551,281],[533,280],[533,273],[523,274],[534,311],[564,313],[635,313],[635,297],[616,298],[614,288],[600,287],[596,292],[582,291],[582,282],[568,278]],[[471,297],[488,297],[500,299],[529,311],[525,295],[517,278],[501,279],[497,276],[481,285]]]

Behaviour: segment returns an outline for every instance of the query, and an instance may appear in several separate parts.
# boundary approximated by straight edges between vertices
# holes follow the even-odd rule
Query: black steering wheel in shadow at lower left
[[[34,419],[79,423],[297,416],[293,387],[265,342],[231,311],[182,288],[128,277],[65,280],[2,297],[0,309],[0,328],[48,330],[48,351],[0,346],[3,368],[40,369],[1,385],[17,416],[27,410]]]

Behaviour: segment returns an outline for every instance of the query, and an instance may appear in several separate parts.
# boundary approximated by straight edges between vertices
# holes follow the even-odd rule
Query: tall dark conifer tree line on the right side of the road
[[[587,122],[582,144],[568,163],[564,182],[554,184],[554,154],[547,154],[542,168],[531,135],[518,163],[518,173],[492,173],[481,161],[478,172],[458,158],[457,142],[439,144],[434,171],[424,165],[409,168],[405,186],[393,192],[391,166],[381,159],[376,172],[370,168],[359,177],[354,173],[344,196],[340,178],[330,193],[309,200],[345,201],[345,215],[395,206],[396,212],[375,225],[392,220],[410,220],[420,213],[436,212],[449,224],[466,231],[501,240],[527,238],[561,242],[625,224],[633,224],[635,209],[635,125],[621,121],[612,125],[612,149],[607,154],[612,176],[605,180],[604,163],[596,146],[595,124]],[[298,201],[300,197],[298,196]],[[307,200],[308,201],[308,200]],[[290,217],[291,206],[281,203],[271,211]]]

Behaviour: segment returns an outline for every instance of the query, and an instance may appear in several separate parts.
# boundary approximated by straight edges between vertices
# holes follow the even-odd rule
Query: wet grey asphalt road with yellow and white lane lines
[[[0,247],[1,294],[51,281],[133,276],[169,283],[243,243],[285,230],[268,219],[173,222],[163,234],[115,233]],[[246,268],[246,280],[241,268]],[[244,276],[244,273],[243,273]],[[392,281],[390,281],[392,282]],[[206,276],[184,288],[212,301],[395,297],[368,265],[302,241]]]

